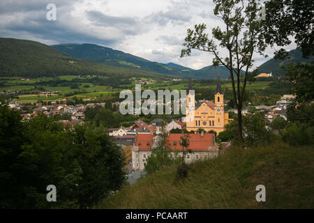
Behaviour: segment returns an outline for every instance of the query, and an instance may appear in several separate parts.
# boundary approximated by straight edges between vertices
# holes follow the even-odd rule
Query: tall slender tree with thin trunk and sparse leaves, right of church
[[[246,82],[253,79],[254,73],[248,70],[253,66],[253,54],[263,54],[264,43],[262,21],[258,20],[258,8],[255,0],[214,0],[214,14],[223,21],[225,29],[214,28],[209,38],[205,24],[188,29],[181,57],[190,56],[191,49],[214,54],[213,65],[225,66],[230,72],[234,104],[238,110],[238,139],[244,147],[242,135],[242,105],[245,98]],[[216,43],[216,41],[218,43]],[[221,56],[221,49],[227,49],[227,55]],[[242,71],[244,69],[244,72]],[[236,77],[236,78],[234,78]],[[236,86],[237,85],[237,86]]]

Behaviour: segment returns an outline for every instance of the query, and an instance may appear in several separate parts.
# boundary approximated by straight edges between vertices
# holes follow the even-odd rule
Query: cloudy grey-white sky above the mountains
[[[47,4],[57,6],[57,20],[46,19]],[[213,56],[193,51],[180,58],[186,30],[194,24],[222,25],[211,0],[1,0],[0,37],[35,40],[47,45],[94,43],[150,61],[200,69]],[[294,49],[290,45],[286,49]],[[267,49],[272,57],[273,50]],[[268,59],[255,55],[255,65]]]

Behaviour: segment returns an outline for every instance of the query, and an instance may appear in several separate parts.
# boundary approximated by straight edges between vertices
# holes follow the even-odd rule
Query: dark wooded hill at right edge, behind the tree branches
[[[285,71],[281,69],[281,66],[286,66],[288,63],[291,62],[305,62],[308,63],[309,61],[313,61],[314,56],[310,56],[308,59],[304,59],[302,57],[302,52],[299,49],[292,49],[289,52],[289,57],[284,60],[279,59],[270,59],[265,63],[262,63],[261,66],[257,68],[257,73],[260,74],[262,72],[270,73],[272,72],[273,75],[283,75]]]

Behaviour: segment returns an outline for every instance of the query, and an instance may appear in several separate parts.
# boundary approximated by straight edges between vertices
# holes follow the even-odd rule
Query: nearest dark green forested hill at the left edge
[[[106,75],[110,77],[174,77],[156,72],[116,68],[68,56],[54,47],[30,40],[0,38],[0,77]]]

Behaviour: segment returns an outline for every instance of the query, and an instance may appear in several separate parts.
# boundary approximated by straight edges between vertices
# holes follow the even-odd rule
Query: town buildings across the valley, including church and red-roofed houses
[[[193,90],[191,81],[188,84],[188,90]],[[265,124],[270,123],[277,116],[281,116],[287,120],[287,106],[293,98],[294,95],[283,95],[281,100],[272,106],[248,105],[242,110],[242,114],[245,116],[249,109],[255,108],[264,113]],[[21,111],[20,116],[22,116],[23,121],[30,119],[32,116],[38,116],[38,114],[46,114],[47,116],[62,116],[66,114],[70,118],[59,120],[59,123],[63,123],[64,127],[82,125],[85,118],[84,112],[87,107],[105,107],[105,102],[93,102],[86,105],[66,105],[66,102],[67,100],[64,99],[59,102],[43,103],[45,105],[42,102],[38,102],[36,106],[23,105],[22,103],[13,101],[7,102],[7,104],[11,109]],[[113,102],[112,105],[119,107],[120,102]],[[220,85],[220,79],[218,78],[216,91],[214,92],[214,102],[208,100],[196,101],[195,93],[191,91],[186,98],[186,116],[173,118],[167,122],[161,118],[155,118],[149,123],[137,119],[137,121],[127,126],[108,128],[107,134],[113,138],[113,141],[121,149],[121,153],[126,157],[124,167],[129,172],[132,170],[142,171],[144,169],[147,157],[151,155],[154,149],[160,149],[159,141],[162,134],[165,136],[165,141],[167,142],[165,143],[165,147],[168,149],[169,156],[172,158],[182,157],[183,155],[183,148],[180,141],[181,137],[187,133],[178,132],[189,132],[190,144],[184,150],[192,151],[192,153],[184,155],[186,163],[213,158],[218,156],[219,148],[230,146],[230,142],[218,144],[215,138],[219,132],[225,130],[225,125],[232,121],[228,116],[229,112],[237,113],[236,109],[225,111],[225,105],[224,93]],[[27,111],[24,109],[27,109]]]

